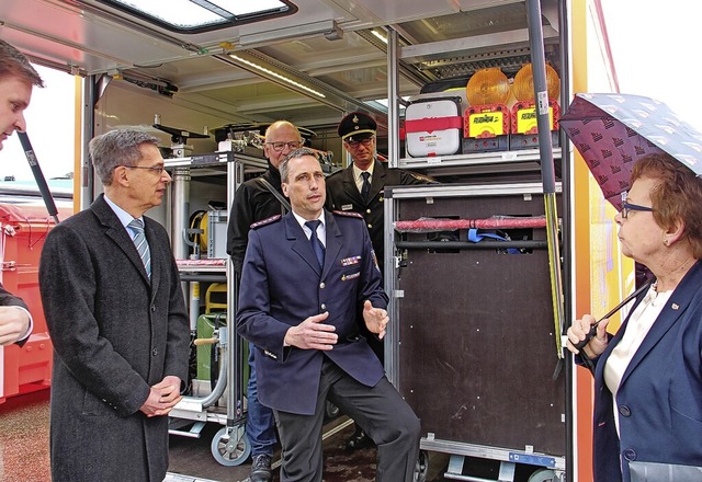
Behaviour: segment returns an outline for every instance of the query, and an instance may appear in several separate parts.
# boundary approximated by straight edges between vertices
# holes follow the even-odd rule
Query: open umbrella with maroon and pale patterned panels
[[[648,153],[666,152],[702,175],[702,134],[663,102],[579,93],[559,123],[616,209],[630,187],[633,165]]]

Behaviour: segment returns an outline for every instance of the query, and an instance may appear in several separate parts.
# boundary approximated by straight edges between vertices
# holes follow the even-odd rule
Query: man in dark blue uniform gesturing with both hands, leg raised
[[[360,335],[383,337],[387,296],[363,220],[324,209],[314,151],[280,167],[292,213],[249,232],[237,330],[256,345],[259,400],[273,409],[281,482],[321,481],[326,400],[359,421],[378,448],[378,481],[410,481],[420,424]]]

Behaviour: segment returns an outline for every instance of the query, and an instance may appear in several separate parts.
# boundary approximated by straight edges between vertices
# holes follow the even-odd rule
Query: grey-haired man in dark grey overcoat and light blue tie
[[[39,263],[54,343],[52,477],[161,482],[190,331],[168,233],[144,213],[171,179],[143,131],[98,136],[90,157],[104,194],[48,233]]]

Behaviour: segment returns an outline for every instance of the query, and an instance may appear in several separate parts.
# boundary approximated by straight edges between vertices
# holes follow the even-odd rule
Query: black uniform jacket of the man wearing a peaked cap
[[[373,249],[377,255],[381,269],[384,268],[385,227],[384,207],[385,186],[407,184],[427,184],[433,182],[401,169],[390,169],[376,160],[371,177],[371,192],[367,203],[363,200],[353,179],[353,165],[335,172],[327,177],[327,209],[360,213],[371,233]]]

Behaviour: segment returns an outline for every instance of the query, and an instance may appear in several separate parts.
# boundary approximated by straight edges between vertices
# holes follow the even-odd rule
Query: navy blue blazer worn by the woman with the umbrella
[[[596,482],[629,482],[632,460],[702,467],[702,262],[686,275],[656,319],[626,368],[614,402],[604,385],[604,364],[627,324],[629,319],[597,359]],[[621,441],[613,403],[620,414]]]

